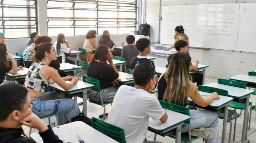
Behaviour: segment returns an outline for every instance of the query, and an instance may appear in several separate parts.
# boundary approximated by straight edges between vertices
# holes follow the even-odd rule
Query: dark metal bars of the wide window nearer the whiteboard
[[[135,28],[137,30],[137,0],[134,2],[128,2],[124,0],[47,0],[48,2],[64,2],[64,3],[73,3],[71,8],[67,7],[52,7],[47,6],[47,9],[59,9],[59,10],[71,10],[73,11],[73,17],[47,17],[47,29],[50,28],[73,28],[73,36],[76,36],[76,28],[97,28],[97,34],[99,34],[99,28],[117,28],[117,34],[119,34],[120,28]],[[91,3],[96,4],[96,8],[76,8],[76,3]],[[105,3],[105,4],[104,4]],[[116,8],[99,8],[99,6],[111,6],[113,5],[107,5],[107,4],[116,4]],[[130,6],[122,6],[122,4],[130,5]],[[121,5],[121,6],[120,6]],[[102,10],[101,10],[102,9]],[[106,10],[106,9],[112,9],[112,10]],[[113,10],[116,9],[116,10]],[[125,10],[135,10],[135,11],[125,11]],[[97,17],[93,18],[83,18],[83,17],[75,17],[76,11],[96,11]],[[113,11],[117,12],[117,18],[99,18],[99,11]],[[135,13],[134,18],[120,18],[120,12],[131,12]],[[116,21],[100,21],[100,20],[116,20]],[[48,22],[51,20],[69,20],[73,21],[73,25],[48,25]],[[134,21],[120,21],[120,20],[134,20]],[[96,25],[76,25],[76,21],[97,21]],[[111,25],[117,25],[117,26],[100,26],[100,22],[116,22],[116,24]],[[122,24],[123,22],[131,22],[131,24]],[[104,24],[108,25],[108,24]],[[128,25],[128,26],[120,26],[120,25]],[[134,25],[134,26],[130,26]]]

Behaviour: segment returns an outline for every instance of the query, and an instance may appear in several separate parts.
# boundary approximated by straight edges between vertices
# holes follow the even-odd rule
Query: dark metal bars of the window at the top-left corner
[[[5,6],[5,4],[3,4],[4,0],[0,1],[0,6],[2,8],[2,17],[1,17],[1,26],[3,26],[3,33],[5,33],[5,29],[36,29],[36,32],[38,32],[38,14],[37,14],[37,10],[38,10],[38,6],[37,6],[37,0],[24,0],[24,1],[34,1],[33,5],[8,5]],[[22,6],[22,7],[19,7]],[[31,7],[31,6],[35,6],[35,7]],[[5,17],[4,16],[4,11],[3,8],[26,8],[26,9],[35,9],[35,17]],[[25,19],[25,20],[9,20],[9,19]],[[32,20],[33,19],[33,20]],[[5,25],[6,21],[35,21],[34,25]],[[9,26],[27,26],[27,28],[6,28]],[[35,27],[31,27],[31,26],[35,26]],[[20,37],[20,38],[29,38],[28,37]],[[19,39],[19,38],[6,38],[6,39]]]

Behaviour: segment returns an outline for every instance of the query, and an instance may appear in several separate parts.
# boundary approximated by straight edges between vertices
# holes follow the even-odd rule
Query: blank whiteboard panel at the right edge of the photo
[[[256,53],[256,3],[241,3],[237,51]]]

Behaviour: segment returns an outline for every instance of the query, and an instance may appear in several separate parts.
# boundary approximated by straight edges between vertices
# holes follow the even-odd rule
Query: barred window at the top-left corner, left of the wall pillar
[[[37,32],[36,0],[1,0],[0,32],[6,38],[25,38]]]

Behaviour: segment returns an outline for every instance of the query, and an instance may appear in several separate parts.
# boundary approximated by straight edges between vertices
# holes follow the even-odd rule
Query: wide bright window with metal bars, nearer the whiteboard
[[[137,0],[47,0],[48,35],[128,34],[136,30]]]

